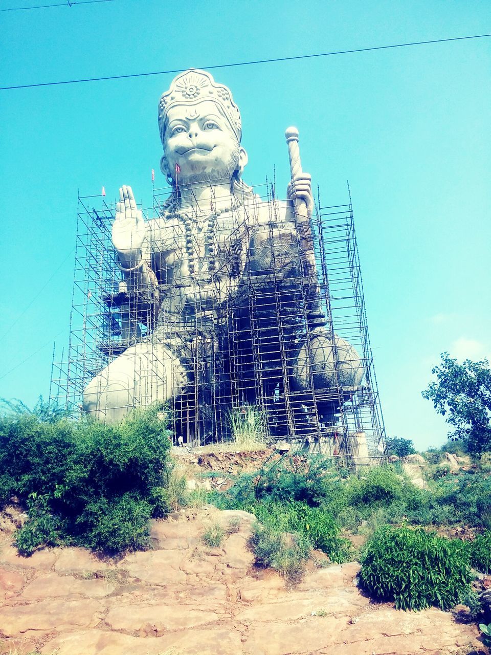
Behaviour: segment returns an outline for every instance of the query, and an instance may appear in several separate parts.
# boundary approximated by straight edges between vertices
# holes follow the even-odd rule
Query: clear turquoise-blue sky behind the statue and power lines
[[[115,0],[1,12],[0,86],[490,32],[488,0]],[[491,354],[491,39],[213,75],[242,112],[245,181],[276,167],[286,187],[290,124],[325,204],[346,202],[349,179],[388,434],[442,443],[445,422],[420,396],[432,365],[443,350]],[[77,190],[105,185],[113,198],[126,183],[151,204],[156,107],[172,77],[0,92],[1,397],[31,405],[48,395],[53,341],[61,350],[68,337]]]

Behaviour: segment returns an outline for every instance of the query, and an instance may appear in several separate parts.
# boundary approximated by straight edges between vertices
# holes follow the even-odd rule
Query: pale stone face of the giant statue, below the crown
[[[217,104],[202,100],[196,105],[175,105],[168,111],[164,138],[163,169],[179,180],[230,179],[238,166],[241,148]]]

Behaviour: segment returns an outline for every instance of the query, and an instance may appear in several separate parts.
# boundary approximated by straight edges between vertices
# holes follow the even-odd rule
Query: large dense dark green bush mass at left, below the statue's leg
[[[28,411],[0,417],[0,500],[18,496],[29,515],[16,535],[20,552],[60,543],[108,552],[145,546],[149,518],[170,507],[169,448],[153,407],[119,424]]]

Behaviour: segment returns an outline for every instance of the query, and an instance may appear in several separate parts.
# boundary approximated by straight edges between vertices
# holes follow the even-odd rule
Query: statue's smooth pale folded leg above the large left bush
[[[134,407],[170,400],[185,381],[183,366],[169,348],[138,343],[90,381],[84,411],[100,421],[119,421]]]

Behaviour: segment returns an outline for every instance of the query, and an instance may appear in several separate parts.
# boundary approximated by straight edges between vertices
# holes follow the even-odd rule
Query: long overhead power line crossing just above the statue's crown
[[[395,43],[393,45],[379,45],[371,48],[354,48],[353,50],[336,50],[334,52],[318,52],[317,54],[299,54],[293,57],[278,57],[276,59],[257,59],[250,62],[235,62],[234,64],[213,64],[211,66],[196,66],[196,68],[213,70],[217,68],[231,68],[234,66],[250,66],[255,64],[274,64],[276,62],[292,62],[299,59],[313,59],[316,57],[329,57],[335,54],[353,54],[355,52],[370,52],[371,50],[388,50],[389,48],[406,48],[415,45],[429,45],[430,43],[448,43],[448,41],[465,41],[466,39],[484,39],[491,34],[476,34],[467,37],[452,37],[451,39],[433,39],[433,41],[412,41],[410,43]],[[0,91],[14,88],[33,88],[35,86],[54,86],[57,84],[79,84],[82,82],[101,82],[104,80],[128,79],[130,77],[148,77],[149,75],[168,75],[181,73],[184,68],[175,68],[168,71],[153,71],[152,73],[130,73],[128,75],[108,75],[107,77],[86,77],[77,80],[64,80],[60,82],[41,82],[37,84],[18,84],[18,86],[0,86]]]

